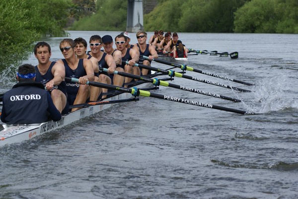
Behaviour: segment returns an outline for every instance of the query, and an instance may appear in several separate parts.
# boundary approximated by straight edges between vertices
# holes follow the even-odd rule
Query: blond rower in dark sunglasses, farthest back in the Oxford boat
[[[144,65],[147,65],[147,66],[151,66],[152,59],[158,58],[158,54],[157,54],[154,46],[146,44],[147,33],[145,31],[139,31],[139,32],[137,32],[136,35],[137,35],[138,43],[135,44],[135,46],[138,47],[139,52],[140,52],[141,55],[149,57],[149,60],[147,60],[143,57],[140,57],[138,63],[139,64],[144,64]],[[142,69],[142,75],[147,75],[147,74],[151,74],[151,71],[149,71],[148,69],[143,68]]]

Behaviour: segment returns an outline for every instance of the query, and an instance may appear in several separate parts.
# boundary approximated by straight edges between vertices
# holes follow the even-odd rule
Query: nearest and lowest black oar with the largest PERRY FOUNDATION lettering
[[[65,79],[67,81],[72,81],[72,82],[78,83],[78,79],[75,79],[75,78],[66,77]],[[143,96],[143,97],[151,97],[151,98],[157,98],[157,99],[165,99],[165,100],[169,100],[169,101],[186,103],[186,104],[191,104],[191,105],[195,105],[195,106],[202,106],[202,107],[206,107],[206,108],[214,108],[214,109],[218,109],[218,110],[224,110],[224,111],[234,112],[234,113],[239,113],[239,114],[247,113],[246,111],[243,111],[243,110],[227,108],[227,107],[223,107],[223,106],[213,105],[210,103],[203,103],[203,102],[199,102],[199,101],[193,101],[190,99],[182,99],[182,98],[176,98],[176,97],[171,97],[171,96],[154,94],[154,93],[150,93],[149,91],[140,90],[138,88],[130,89],[130,88],[125,88],[125,87],[113,86],[110,84],[103,84],[103,83],[99,83],[99,82],[90,82],[90,81],[88,81],[86,84],[91,85],[91,86],[105,88],[105,89],[111,89],[111,90],[116,90],[116,91],[123,91],[125,93],[131,93],[133,96]]]

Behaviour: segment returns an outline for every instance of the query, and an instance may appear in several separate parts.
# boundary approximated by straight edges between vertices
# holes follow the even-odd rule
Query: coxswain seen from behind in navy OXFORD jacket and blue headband
[[[6,124],[35,124],[49,119],[58,121],[61,113],[49,92],[40,82],[35,82],[36,70],[30,64],[18,68],[18,81],[3,95],[1,121]],[[48,117],[50,114],[50,118]]]

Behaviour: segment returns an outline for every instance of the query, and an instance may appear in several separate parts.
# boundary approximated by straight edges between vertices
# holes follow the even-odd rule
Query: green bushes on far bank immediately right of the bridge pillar
[[[160,5],[145,15],[147,31],[232,32],[233,12],[244,0],[160,0]]]

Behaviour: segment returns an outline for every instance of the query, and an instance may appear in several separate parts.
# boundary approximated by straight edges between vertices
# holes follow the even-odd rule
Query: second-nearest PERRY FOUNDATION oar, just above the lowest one
[[[99,70],[102,70],[104,72],[108,72],[107,68],[99,67]],[[151,79],[151,78],[138,76],[138,75],[133,75],[133,74],[130,74],[130,73],[125,73],[125,72],[120,72],[120,71],[114,71],[114,74],[118,74],[118,75],[121,75],[121,76],[124,76],[124,77],[130,77],[130,78],[133,78],[133,79],[143,80],[145,82],[150,82],[154,86],[160,86],[161,85],[161,86],[165,86],[165,87],[180,89],[180,90],[183,90],[183,91],[189,91],[189,92],[193,92],[193,93],[197,93],[197,94],[211,96],[211,97],[214,97],[214,98],[226,99],[226,100],[235,101],[235,102],[240,102],[241,101],[240,99],[233,99],[233,98],[230,98],[230,97],[221,96],[219,94],[214,94],[214,93],[210,93],[210,92],[200,91],[198,89],[193,89],[193,88],[189,88],[189,87],[185,87],[185,86],[171,84],[169,82],[162,81],[162,80],[159,80],[157,78]]]

